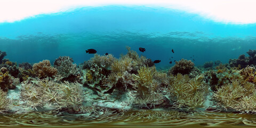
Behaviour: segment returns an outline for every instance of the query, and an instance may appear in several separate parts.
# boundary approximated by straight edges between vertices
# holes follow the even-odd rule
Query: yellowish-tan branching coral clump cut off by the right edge
[[[231,83],[221,86],[215,93],[214,98],[219,106],[236,111],[256,112],[256,88],[253,83],[241,82],[233,79]]]

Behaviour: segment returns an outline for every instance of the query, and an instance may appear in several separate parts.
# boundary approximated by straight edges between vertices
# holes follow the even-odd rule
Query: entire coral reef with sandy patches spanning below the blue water
[[[18,66],[0,51],[0,112],[87,116],[102,109],[168,108],[177,116],[185,111],[256,112],[256,50],[226,64],[210,61],[195,67],[191,60],[181,59],[169,70],[156,70],[153,61],[127,50],[119,59],[94,54],[78,66],[66,56],[53,65],[42,60]]]

